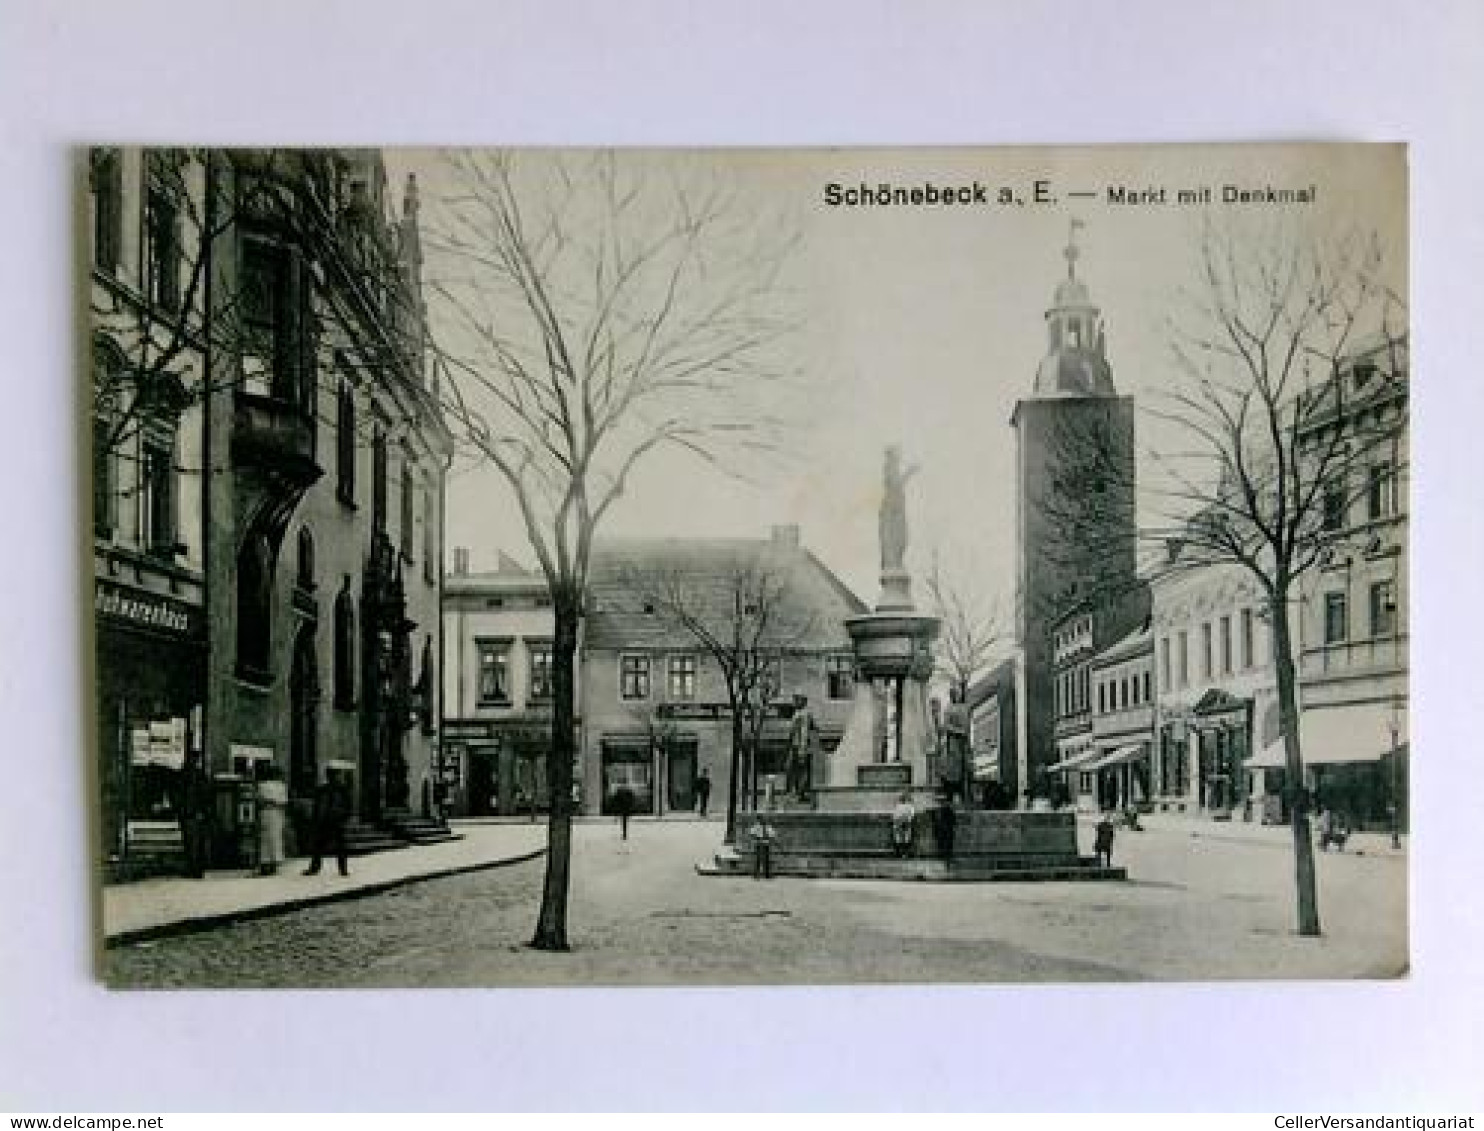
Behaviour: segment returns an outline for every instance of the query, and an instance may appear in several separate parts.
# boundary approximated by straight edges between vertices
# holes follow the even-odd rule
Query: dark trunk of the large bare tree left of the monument
[[[531,945],[536,950],[567,950],[567,891],[571,880],[571,763],[577,750],[576,663],[577,594],[558,589],[552,595],[555,613],[552,640],[552,741],[546,757],[546,785],[551,815],[546,822],[546,885],[542,913],[536,920]],[[534,804],[534,801],[533,801]]]

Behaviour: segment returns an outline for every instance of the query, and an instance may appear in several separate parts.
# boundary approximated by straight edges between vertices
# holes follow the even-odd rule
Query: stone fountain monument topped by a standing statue
[[[778,876],[911,880],[1123,879],[1077,852],[1073,812],[991,812],[957,804],[933,781],[928,681],[938,617],[919,613],[907,570],[907,484],[916,468],[886,450],[881,481],[881,594],[849,617],[855,698],[840,745],[816,764],[813,788],[778,800],[770,830]],[[772,803],[770,803],[772,804]],[[749,827],[700,871],[751,876]],[[905,824],[905,837],[904,837]],[[893,828],[895,825],[895,828]]]

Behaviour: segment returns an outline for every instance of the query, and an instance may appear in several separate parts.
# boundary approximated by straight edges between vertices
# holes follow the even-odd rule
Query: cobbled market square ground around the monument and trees
[[[528,950],[545,861],[110,950],[117,987],[1125,981],[1395,977],[1405,856],[1322,853],[1325,935],[1293,934],[1284,830],[1126,833],[1126,883],[702,877],[715,822],[579,824],[573,951]],[[1086,840],[1089,830],[1083,827]],[[1195,834],[1193,834],[1195,833]],[[1377,845],[1380,845],[1377,839]]]

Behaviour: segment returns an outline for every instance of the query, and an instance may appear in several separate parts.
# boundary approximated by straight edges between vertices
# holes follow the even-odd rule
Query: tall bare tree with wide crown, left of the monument
[[[640,156],[457,153],[447,174],[427,240],[445,411],[513,494],[555,614],[549,853],[531,945],[565,950],[574,656],[594,534],[654,453],[735,468],[775,448],[789,240],[723,187]]]

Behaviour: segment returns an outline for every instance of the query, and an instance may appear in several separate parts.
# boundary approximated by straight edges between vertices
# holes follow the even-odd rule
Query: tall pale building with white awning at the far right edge
[[[1350,350],[1324,413],[1303,419],[1309,450],[1349,445],[1324,485],[1325,549],[1301,585],[1300,736],[1318,803],[1385,827],[1407,810],[1405,337]]]

